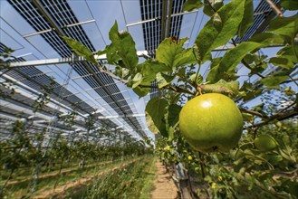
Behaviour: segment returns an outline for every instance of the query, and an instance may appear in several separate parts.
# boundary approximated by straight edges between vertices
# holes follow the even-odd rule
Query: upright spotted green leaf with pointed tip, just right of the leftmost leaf
[[[115,62],[120,58],[123,62],[123,66],[133,73],[139,62],[139,57],[135,47],[136,43],[133,41],[130,33],[118,33],[118,24],[115,22],[111,27],[109,38],[111,40],[111,45],[106,49],[108,62],[111,60]],[[111,56],[114,58],[111,59]],[[113,62],[109,63],[114,64]]]

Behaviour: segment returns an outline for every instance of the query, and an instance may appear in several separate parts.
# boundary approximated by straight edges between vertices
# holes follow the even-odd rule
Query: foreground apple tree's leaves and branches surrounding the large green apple
[[[242,37],[254,21],[252,0],[226,4],[188,0],[185,10],[203,9],[209,17],[194,45],[186,49],[183,45],[187,38],[167,38],[159,44],[156,58],[141,63],[130,33],[119,32],[115,23],[109,33],[111,44],[96,53],[105,53],[106,64],[114,65],[114,71],[102,67],[81,43],[68,37],[64,40],[73,52],[130,87],[139,97],[149,94],[151,88],[160,90],[159,97],[149,100],[145,109],[149,129],[161,135],[156,153],[167,164],[181,162],[187,166],[189,174],[203,187],[196,194],[215,198],[297,198],[298,84],[294,74],[298,17],[283,16],[280,6],[266,2],[278,16],[264,33],[236,43],[236,36]],[[282,0],[281,6],[283,10],[297,10],[293,0]],[[211,53],[226,43],[235,47],[223,56]],[[264,53],[272,46],[279,46],[280,50],[269,57]],[[203,64],[209,66],[206,76],[201,71]],[[239,81],[239,67],[248,71],[245,81]],[[224,94],[242,112],[243,135],[227,153],[197,152],[180,134],[180,110],[187,100],[204,93]],[[259,104],[245,106],[250,101]],[[261,147],[255,147],[255,139],[261,135],[267,138],[262,139]],[[262,147],[268,142],[269,147]]]

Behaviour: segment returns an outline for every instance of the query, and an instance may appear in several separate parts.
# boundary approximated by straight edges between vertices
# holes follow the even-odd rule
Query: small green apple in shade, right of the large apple
[[[255,147],[260,151],[271,151],[277,147],[274,137],[269,135],[260,135],[255,138]]]

